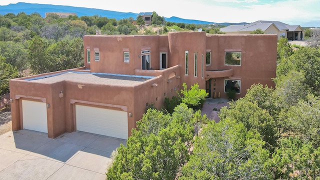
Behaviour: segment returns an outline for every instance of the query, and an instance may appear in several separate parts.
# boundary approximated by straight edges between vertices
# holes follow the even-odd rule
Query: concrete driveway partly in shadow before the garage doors
[[[31,130],[0,135],[0,179],[105,179],[110,155],[126,140],[71,132],[55,139]]]

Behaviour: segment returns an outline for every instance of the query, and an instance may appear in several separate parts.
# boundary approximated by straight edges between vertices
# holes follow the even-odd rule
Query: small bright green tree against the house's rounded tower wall
[[[181,89],[182,99],[181,101],[193,109],[200,109],[205,101],[205,97],[208,95],[204,89],[200,89],[198,83],[191,85],[190,89],[187,89],[187,85],[184,82]]]

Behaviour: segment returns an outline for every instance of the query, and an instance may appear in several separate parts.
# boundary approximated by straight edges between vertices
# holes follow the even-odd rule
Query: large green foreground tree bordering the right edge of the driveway
[[[126,147],[117,148],[106,178],[174,179],[188,159],[186,141],[193,136],[193,110],[181,104],[175,112],[171,117],[148,109],[137,123],[138,130],[132,129]]]

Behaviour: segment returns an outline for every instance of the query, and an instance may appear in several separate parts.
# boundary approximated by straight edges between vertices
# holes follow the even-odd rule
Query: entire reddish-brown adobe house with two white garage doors
[[[275,34],[85,35],[84,66],[11,79],[12,130],[75,130],[126,139],[148,105],[198,83],[209,97],[274,87]]]

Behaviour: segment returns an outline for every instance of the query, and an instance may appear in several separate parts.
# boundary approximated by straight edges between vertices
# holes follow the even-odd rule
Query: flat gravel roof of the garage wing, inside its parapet
[[[126,74],[109,74],[94,72],[66,71],[37,77],[30,77],[24,80],[54,83],[63,80],[69,80],[79,83],[95,83],[108,85],[136,85],[143,81],[153,78],[154,76],[126,75]]]

